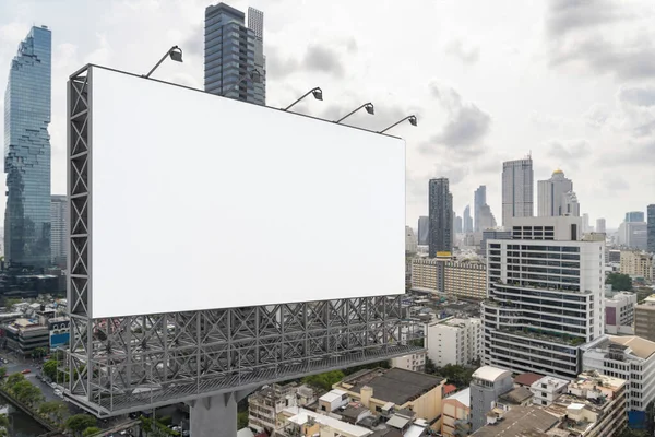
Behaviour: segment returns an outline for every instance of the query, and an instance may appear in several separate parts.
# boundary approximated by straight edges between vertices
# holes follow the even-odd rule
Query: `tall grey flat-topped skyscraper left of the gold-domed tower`
[[[532,156],[502,163],[502,225],[512,217],[534,214],[534,173]]]

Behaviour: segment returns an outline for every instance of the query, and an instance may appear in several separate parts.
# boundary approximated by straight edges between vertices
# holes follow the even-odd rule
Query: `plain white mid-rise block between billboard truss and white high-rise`
[[[437,367],[477,362],[483,352],[481,320],[452,318],[428,323],[428,357]]]

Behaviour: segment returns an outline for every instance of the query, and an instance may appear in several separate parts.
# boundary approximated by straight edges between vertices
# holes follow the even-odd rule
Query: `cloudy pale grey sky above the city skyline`
[[[87,62],[145,73],[168,47],[180,45],[184,63],[167,62],[155,75],[202,87],[207,4],[0,1],[1,86],[29,26],[52,29],[53,193],[66,191],[68,75]],[[535,179],[558,167],[573,179],[592,224],[606,217],[616,227],[626,211],[655,203],[652,0],[228,4],[264,12],[270,106],[286,106],[319,85],[324,101],[308,99],[298,111],[334,119],[370,101],[376,116],[362,113],[349,121],[376,130],[418,115],[418,128],[404,123],[393,130],[407,140],[413,226],[427,213],[428,179],[440,176],[450,178],[460,215],[473,191],[486,185],[500,222],[501,163],[531,153]],[[2,202],[0,213],[3,209]]]

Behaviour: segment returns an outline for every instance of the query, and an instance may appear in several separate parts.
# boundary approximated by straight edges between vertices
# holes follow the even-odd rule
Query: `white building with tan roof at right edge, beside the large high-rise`
[[[603,335],[582,347],[585,370],[628,382],[628,411],[645,412],[655,401],[655,342],[640,336]]]

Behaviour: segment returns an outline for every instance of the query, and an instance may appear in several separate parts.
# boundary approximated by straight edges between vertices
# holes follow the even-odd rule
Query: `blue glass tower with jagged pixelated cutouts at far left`
[[[35,268],[50,263],[51,40],[46,26],[32,27],[4,93],[5,258]]]

